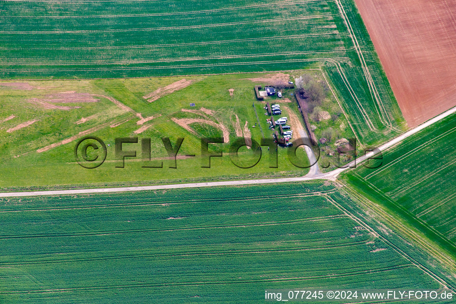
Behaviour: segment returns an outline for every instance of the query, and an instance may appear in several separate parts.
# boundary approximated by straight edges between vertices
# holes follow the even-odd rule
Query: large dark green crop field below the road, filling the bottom
[[[330,184],[11,198],[1,206],[5,303],[258,303],[274,288],[439,288],[435,273],[452,284],[432,258],[382,232]]]

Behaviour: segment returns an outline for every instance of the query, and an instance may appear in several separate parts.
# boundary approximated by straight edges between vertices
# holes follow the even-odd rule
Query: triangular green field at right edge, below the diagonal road
[[[355,191],[386,206],[456,257],[456,115],[383,152],[378,169],[345,174]]]

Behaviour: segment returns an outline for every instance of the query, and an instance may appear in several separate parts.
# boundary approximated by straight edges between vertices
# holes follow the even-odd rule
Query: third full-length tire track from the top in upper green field
[[[341,33],[320,33],[320,34],[305,34],[305,35],[288,35],[288,36],[269,36],[259,38],[243,38],[231,40],[216,40],[216,41],[203,41],[203,42],[186,42],[186,43],[168,43],[168,44],[149,44],[149,45],[136,45],[136,46],[74,46],[74,47],[0,47],[0,50],[113,50],[113,49],[131,49],[131,48],[158,48],[158,47],[176,47],[176,46],[198,46],[208,44],[223,44],[233,42],[249,42],[249,41],[264,41],[276,39],[292,39],[292,38],[305,38],[305,37],[326,37],[326,36],[347,36]]]

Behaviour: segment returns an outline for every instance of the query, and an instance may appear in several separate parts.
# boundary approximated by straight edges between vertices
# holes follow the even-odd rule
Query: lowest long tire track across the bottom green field
[[[252,284],[252,283],[267,283],[267,282],[290,282],[290,281],[305,281],[316,280],[324,278],[344,278],[356,275],[365,275],[373,273],[382,273],[387,271],[394,271],[404,268],[409,268],[414,265],[404,264],[384,268],[376,268],[369,270],[361,270],[348,273],[334,273],[323,274],[306,277],[291,277],[291,278],[266,278],[254,280],[230,280],[230,281],[201,281],[201,282],[164,282],[164,283],[140,283],[140,284],[125,284],[125,285],[105,285],[105,286],[89,286],[89,287],[75,287],[75,288],[62,288],[62,289],[35,289],[35,290],[4,290],[0,294],[46,294],[46,293],[59,293],[59,292],[76,292],[76,291],[90,291],[90,290],[108,290],[108,289],[124,289],[124,288],[154,288],[154,287],[172,287],[172,286],[200,286],[200,285],[224,285],[224,284]]]

